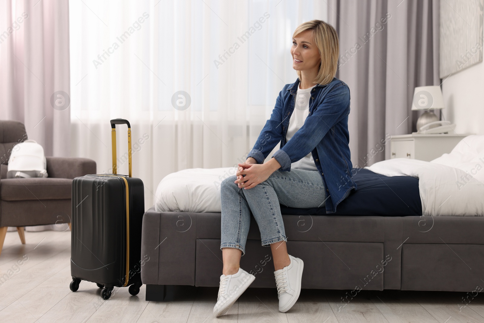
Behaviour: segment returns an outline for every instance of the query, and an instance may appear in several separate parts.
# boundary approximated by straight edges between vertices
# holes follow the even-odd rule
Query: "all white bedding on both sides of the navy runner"
[[[365,168],[386,176],[418,177],[423,215],[484,215],[484,135],[465,137],[450,154],[430,162],[394,158]],[[156,189],[155,210],[220,213],[220,184],[236,171],[195,168],[166,175]]]

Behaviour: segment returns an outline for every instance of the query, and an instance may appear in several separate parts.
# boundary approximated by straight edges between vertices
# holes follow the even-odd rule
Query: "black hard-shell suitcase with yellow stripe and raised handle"
[[[128,125],[129,175],[117,175],[116,124]],[[97,283],[108,299],[115,287],[141,287],[144,185],[131,177],[131,126],[111,120],[113,174],[76,177],[72,183],[71,291],[81,280]]]

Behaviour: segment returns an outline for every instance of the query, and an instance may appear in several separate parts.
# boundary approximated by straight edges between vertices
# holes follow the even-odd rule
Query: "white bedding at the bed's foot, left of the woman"
[[[220,213],[220,185],[236,172],[237,167],[222,167],[183,169],[168,174],[156,189],[155,210]]]

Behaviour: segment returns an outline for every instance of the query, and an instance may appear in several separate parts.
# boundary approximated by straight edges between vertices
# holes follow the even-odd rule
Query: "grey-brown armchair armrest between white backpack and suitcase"
[[[74,179],[96,173],[96,162],[89,158],[45,157],[45,159],[49,177]]]

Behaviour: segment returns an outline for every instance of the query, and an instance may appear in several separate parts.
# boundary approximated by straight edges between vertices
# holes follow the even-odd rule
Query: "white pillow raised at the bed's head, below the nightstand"
[[[462,169],[484,182],[484,135],[462,138],[450,154],[443,154],[430,162]]]

